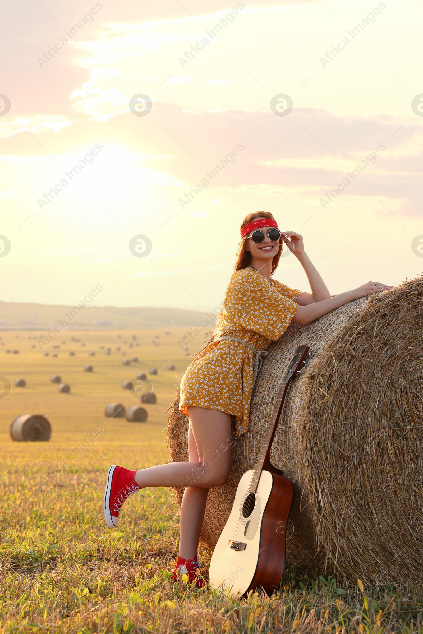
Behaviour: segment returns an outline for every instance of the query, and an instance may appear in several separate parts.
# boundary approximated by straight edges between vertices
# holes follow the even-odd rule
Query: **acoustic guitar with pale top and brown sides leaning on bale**
[[[270,450],[285,396],[308,356],[308,346],[297,348],[280,385],[256,466],[240,479],[231,514],[212,555],[212,588],[220,586],[238,596],[260,587],[268,594],[279,589],[294,486],[271,464]]]

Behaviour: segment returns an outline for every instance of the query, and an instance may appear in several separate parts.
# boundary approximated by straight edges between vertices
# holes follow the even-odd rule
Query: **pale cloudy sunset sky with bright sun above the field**
[[[422,273],[422,3],[144,4],[2,10],[0,299],[209,311],[257,210],[332,294]]]

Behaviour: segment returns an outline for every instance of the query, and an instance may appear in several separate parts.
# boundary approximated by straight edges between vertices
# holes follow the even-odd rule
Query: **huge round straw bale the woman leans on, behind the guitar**
[[[290,389],[271,451],[294,482],[287,558],[346,583],[421,585],[422,305],[420,277],[307,326],[293,323],[271,343],[230,477],[210,489],[202,541],[216,544],[238,481],[256,463],[285,368],[306,344],[312,356]],[[172,460],[188,460],[178,398],[168,429]]]

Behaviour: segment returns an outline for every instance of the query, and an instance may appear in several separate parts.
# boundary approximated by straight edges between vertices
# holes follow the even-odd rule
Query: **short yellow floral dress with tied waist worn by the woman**
[[[288,328],[296,313],[294,300],[303,291],[277,280],[269,283],[251,268],[240,269],[231,280],[223,302],[214,341],[197,354],[181,380],[179,411],[204,407],[235,416],[235,431],[248,429],[253,387],[254,353],[244,344],[222,340],[229,335],[265,350]]]

